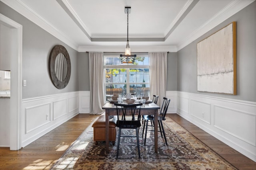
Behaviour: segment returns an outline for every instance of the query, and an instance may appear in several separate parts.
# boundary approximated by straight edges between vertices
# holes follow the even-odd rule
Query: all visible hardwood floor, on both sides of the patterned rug
[[[0,170],[47,170],[98,115],[79,114],[28,146],[12,151],[0,147]],[[228,147],[177,114],[168,114],[174,121],[208,145],[240,170],[256,170],[256,162]]]

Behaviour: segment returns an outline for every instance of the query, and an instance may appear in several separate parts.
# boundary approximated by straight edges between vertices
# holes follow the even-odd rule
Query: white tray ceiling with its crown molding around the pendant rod
[[[73,49],[176,52],[254,0],[1,0]]]

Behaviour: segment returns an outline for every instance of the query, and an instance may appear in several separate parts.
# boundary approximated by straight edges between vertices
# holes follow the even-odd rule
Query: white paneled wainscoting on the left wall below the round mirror
[[[25,147],[79,113],[79,92],[22,100],[21,146]]]

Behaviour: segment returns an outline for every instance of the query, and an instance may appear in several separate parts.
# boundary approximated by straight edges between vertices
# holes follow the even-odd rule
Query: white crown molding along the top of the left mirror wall
[[[66,36],[62,31],[54,27],[50,22],[42,18],[39,14],[37,14],[34,10],[24,4],[21,0],[1,0],[4,4],[20,13],[22,16],[26,17],[28,20],[32,21],[54,37],[58,38],[60,41],[66,43],[71,48],[77,51],[78,44],[73,42]]]

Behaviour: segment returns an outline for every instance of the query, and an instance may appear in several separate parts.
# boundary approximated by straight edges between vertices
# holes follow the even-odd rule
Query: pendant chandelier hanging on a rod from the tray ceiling
[[[127,43],[124,55],[120,54],[120,61],[122,63],[134,63],[136,60],[136,55],[131,55],[131,49],[128,39],[128,25],[129,25],[129,13],[131,12],[131,7],[124,7],[124,13],[127,14]]]

